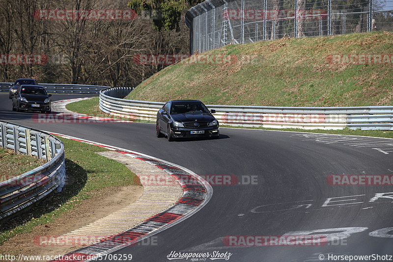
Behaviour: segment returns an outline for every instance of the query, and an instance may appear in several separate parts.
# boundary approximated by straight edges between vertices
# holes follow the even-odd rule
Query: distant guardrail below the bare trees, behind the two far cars
[[[8,92],[13,83],[0,83],[0,92]],[[48,93],[65,93],[65,94],[99,94],[101,90],[109,86],[84,85],[84,84],[41,84]]]

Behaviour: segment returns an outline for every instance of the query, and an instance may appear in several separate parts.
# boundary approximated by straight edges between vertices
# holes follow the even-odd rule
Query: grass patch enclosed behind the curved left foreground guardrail
[[[44,163],[44,159],[16,154],[13,150],[0,148],[0,182],[22,175]]]

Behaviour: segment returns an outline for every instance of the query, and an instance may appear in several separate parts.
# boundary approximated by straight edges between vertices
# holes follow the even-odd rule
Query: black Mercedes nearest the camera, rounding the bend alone
[[[156,135],[166,135],[168,141],[176,137],[220,136],[219,123],[206,105],[199,100],[174,100],[166,103],[157,113]]]

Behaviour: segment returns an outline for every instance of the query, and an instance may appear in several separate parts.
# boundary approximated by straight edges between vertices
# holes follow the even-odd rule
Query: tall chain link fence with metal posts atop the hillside
[[[282,37],[393,31],[393,0],[206,0],[185,21],[193,54]]]

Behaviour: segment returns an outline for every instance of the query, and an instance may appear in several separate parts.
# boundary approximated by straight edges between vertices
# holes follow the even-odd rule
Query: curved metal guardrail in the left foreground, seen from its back
[[[55,136],[0,121],[0,146],[48,162],[20,176],[0,182],[0,220],[43,199],[65,183],[64,145]]]

